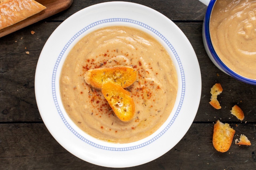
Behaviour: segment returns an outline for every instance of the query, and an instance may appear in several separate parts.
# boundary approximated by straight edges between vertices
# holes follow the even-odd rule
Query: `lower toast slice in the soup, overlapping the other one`
[[[115,115],[117,115],[121,121],[129,122],[134,118],[135,105],[129,92],[119,85],[107,82],[102,85],[102,93],[107,99],[107,102],[109,102]]]

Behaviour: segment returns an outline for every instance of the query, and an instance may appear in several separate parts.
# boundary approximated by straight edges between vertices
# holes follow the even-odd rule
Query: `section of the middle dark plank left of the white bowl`
[[[43,45],[59,24],[36,23],[0,38],[0,122],[42,121],[35,100],[35,69]]]

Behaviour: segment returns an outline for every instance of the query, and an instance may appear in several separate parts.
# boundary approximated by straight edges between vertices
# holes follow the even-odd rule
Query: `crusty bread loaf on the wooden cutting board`
[[[1,0],[0,30],[46,9],[34,0]]]

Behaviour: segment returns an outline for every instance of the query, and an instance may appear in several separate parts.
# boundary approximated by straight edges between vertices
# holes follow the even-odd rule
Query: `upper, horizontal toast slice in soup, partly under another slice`
[[[85,73],[85,81],[91,86],[101,89],[102,84],[112,82],[122,88],[129,87],[137,78],[135,69],[128,66],[97,68]]]

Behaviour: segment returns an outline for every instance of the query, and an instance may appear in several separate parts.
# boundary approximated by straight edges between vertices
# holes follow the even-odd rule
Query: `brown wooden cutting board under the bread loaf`
[[[65,9],[69,8],[71,6],[71,4],[73,3],[73,0],[35,0],[35,1],[41,3],[43,6],[46,7],[46,9],[44,9],[40,13],[30,16],[29,18],[24,19],[16,24],[13,24],[9,27],[1,29],[0,30],[0,38],[2,36],[5,36],[7,34],[14,32],[14,31],[17,31],[21,28],[29,26],[30,24],[33,24],[42,19],[45,19],[51,15],[57,14]]]

